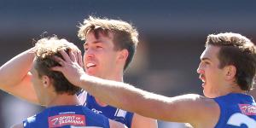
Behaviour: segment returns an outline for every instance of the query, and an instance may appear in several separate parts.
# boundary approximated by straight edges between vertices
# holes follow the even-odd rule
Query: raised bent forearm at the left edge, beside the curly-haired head
[[[31,69],[33,59],[32,49],[28,49],[3,64],[0,67],[1,89],[19,84]]]

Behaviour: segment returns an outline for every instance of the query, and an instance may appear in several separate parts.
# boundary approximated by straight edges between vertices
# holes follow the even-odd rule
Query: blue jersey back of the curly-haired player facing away
[[[108,118],[93,113],[84,106],[57,106],[46,108],[23,121],[24,128],[70,128],[72,126],[96,126],[109,128]]]

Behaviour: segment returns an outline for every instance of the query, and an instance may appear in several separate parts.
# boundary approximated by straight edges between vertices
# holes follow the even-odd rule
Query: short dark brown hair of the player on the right
[[[256,48],[250,39],[238,33],[225,32],[211,34],[207,45],[220,47],[218,52],[219,68],[228,65],[236,67],[236,83],[241,90],[252,90],[256,73]]]

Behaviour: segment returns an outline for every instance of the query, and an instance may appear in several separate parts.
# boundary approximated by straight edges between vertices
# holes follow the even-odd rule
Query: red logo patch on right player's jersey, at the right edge
[[[246,115],[256,115],[256,106],[251,104],[238,104],[241,113]]]

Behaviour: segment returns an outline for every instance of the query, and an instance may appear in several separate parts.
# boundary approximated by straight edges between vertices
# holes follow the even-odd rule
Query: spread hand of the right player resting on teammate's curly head
[[[51,69],[63,73],[70,83],[79,86],[81,77],[86,75],[84,68],[79,65],[79,59],[75,57],[73,51],[69,52],[69,55],[64,50],[60,52],[63,59],[55,56],[55,61],[59,62],[61,67],[52,67]]]

